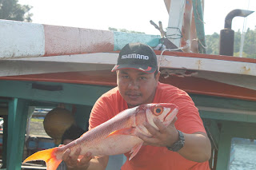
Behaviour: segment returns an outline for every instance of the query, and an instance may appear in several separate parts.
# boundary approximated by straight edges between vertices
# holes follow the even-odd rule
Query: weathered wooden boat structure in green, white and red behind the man
[[[75,108],[75,122],[85,128],[94,102],[116,86],[110,70],[118,51],[129,42],[142,42],[155,48],[160,81],[185,90],[198,107],[212,143],[211,168],[228,169],[231,139],[256,139],[256,60],[206,54],[198,22],[203,20],[201,1],[190,0],[185,7],[179,7],[181,1],[165,2],[170,18],[177,19],[168,26],[176,29],[161,31],[162,36],[0,20],[3,168],[21,168],[34,108],[65,104]],[[114,156],[109,169],[122,161]]]

